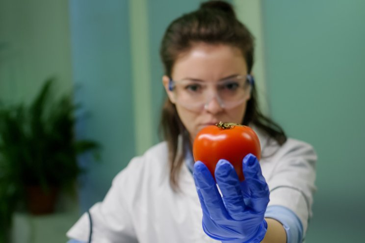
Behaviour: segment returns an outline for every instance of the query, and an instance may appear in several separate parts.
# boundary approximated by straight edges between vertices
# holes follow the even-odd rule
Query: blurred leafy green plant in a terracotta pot
[[[98,148],[76,139],[78,107],[69,95],[54,98],[53,83],[46,80],[30,105],[0,106],[0,193],[32,214],[51,213],[57,193],[72,192],[83,172],[77,156]]]

